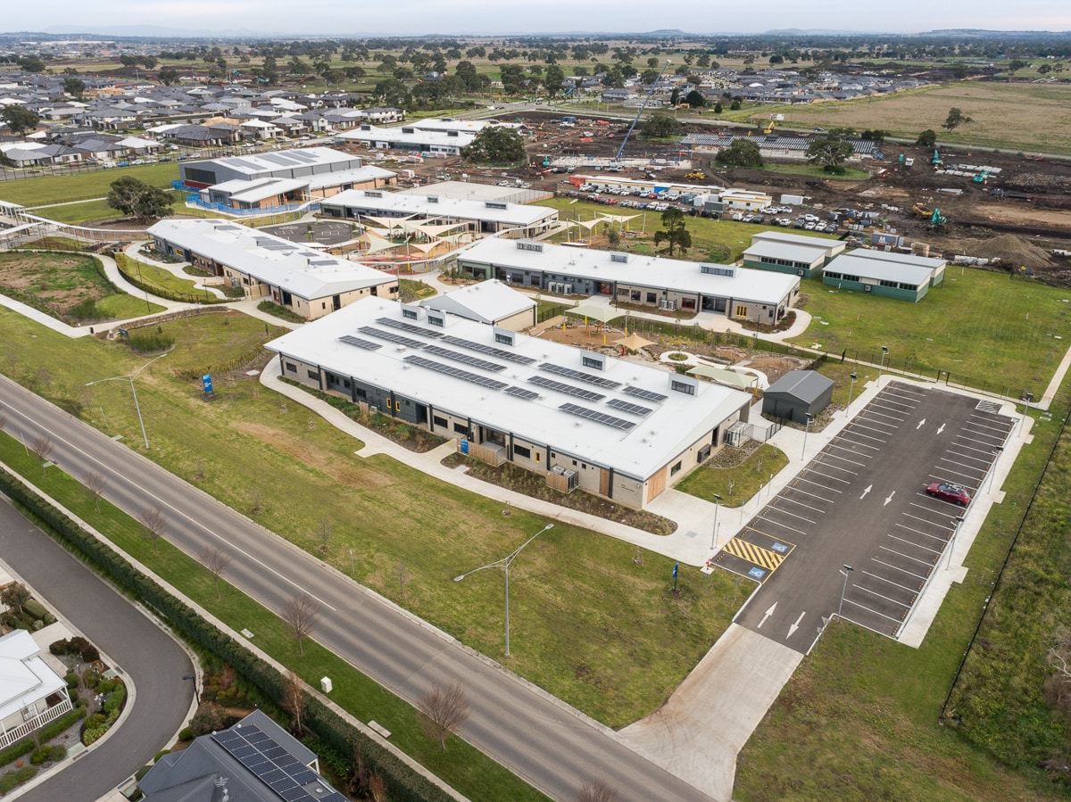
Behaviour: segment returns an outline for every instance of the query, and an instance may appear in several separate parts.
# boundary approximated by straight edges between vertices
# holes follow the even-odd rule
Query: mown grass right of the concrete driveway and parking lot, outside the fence
[[[1005,483],[1004,502],[993,508],[967,557],[966,579],[952,586],[922,647],[849,623],[831,624],[740,753],[734,799],[1066,798],[1066,788],[1049,783],[1040,770],[1016,772],[998,763],[940,726],[938,715],[1067,412],[1069,390],[1071,381],[1054,405],[1058,414],[1035,426],[1034,442]],[[1066,499],[1066,473],[1061,481]],[[1016,625],[1014,619],[990,620]],[[1015,698],[1024,690],[1009,693]],[[990,696],[984,703],[1002,709],[1006,702]]]

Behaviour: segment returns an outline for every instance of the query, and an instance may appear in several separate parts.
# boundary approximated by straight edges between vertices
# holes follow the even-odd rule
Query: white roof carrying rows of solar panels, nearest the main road
[[[364,298],[272,341],[267,347],[302,362],[320,365],[332,373],[390,389],[401,396],[428,404],[437,410],[471,418],[473,424],[512,433],[529,442],[546,443],[562,456],[568,454],[604,468],[613,468],[636,480],[646,480],[750,402],[746,393],[707,382],[696,382],[696,395],[688,395],[670,389],[670,380],[684,379],[675,372],[614,357],[605,358],[605,370],[584,367],[580,359],[583,355],[593,355],[590,351],[523,334],[515,335],[514,346],[503,345],[496,342],[492,327],[464,318],[448,315],[446,329],[437,329],[404,318],[403,308],[405,307],[398,303]],[[397,331],[378,323],[378,319],[419,326],[433,334],[414,335],[412,331]],[[398,346],[368,332],[361,332],[362,327],[402,334],[409,339],[419,339],[422,344],[464,353],[504,368],[495,370],[480,367],[479,364],[447,360],[442,355],[422,352],[423,346]],[[530,360],[530,363],[518,364],[494,353],[473,350],[464,344],[443,342],[436,334],[509,351]],[[381,347],[366,350],[340,342],[340,337],[347,335],[374,342]],[[407,362],[408,357],[427,359],[435,364],[462,369],[470,376],[502,382],[502,385],[494,389],[472,383],[465,378]],[[542,367],[544,364],[575,368],[615,384],[613,388],[598,387],[549,372]],[[578,398],[533,383],[529,380],[530,377],[541,377],[563,385],[597,392],[601,397]],[[507,387],[531,390],[538,392],[539,396],[526,399],[511,395],[506,392]],[[662,400],[645,400],[624,393],[627,387],[640,388],[665,397]],[[621,411],[607,404],[614,398],[644,407],[650,412],[637,414]],[[595,410],[608,415],[610,420],[600,423],[574,415],[559,409],[564,404]],[[632,425],[627,428],[610,425],[614,420]]]

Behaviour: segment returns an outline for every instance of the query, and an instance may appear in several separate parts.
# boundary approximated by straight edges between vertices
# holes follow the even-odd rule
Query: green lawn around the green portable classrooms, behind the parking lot
[[[1007,274],[949,266],[945,284],[919,303],[836,290],[819,279],[802,282],[802,308],[815,319],[791,342],[819,345],[830,354],[880,361],[952,383],[1040,397],[1071,342],[1071,298],[1066,289]],[[1057,336],[1062,339],[1056,339]],[[905,368],[906,364],[906,368]]]

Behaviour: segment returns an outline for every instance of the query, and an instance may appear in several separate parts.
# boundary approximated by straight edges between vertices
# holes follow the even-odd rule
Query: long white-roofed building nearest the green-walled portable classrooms
[[[799,294],[795,275],[735,264],[665,259],[527,240],[482,240],[457,256],[476,278],[499,278],[549,292],[774,323]]]

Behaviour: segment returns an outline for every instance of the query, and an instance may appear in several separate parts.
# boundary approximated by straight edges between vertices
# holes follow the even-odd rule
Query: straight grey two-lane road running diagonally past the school
[[[416,702],[433,681],[459,682],[471,711],[464,737],[548,796],[573,800],[585,782],[604,778],[622,800],[708,799],[612,735],[3,377],[0,409],[7,413],[9,433],[27,441],[48,435],[51,459],[66,472],[104,474],[104,495],[121,509],[137,516],[160,505],[167,517],[164,536],[187,554],[209,544],[223,548],[232,559],[227,579],[268,608],[280,610],[298,592],[317,599],[327,615],[316,639],[402,698]],[[390,722],[380,723],[390,728]]]

